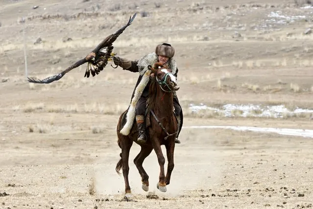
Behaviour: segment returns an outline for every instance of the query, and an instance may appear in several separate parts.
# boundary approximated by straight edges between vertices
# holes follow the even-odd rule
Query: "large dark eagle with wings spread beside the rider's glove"
[[[103,70],[103,68],[107,65],[108,61],[112,61],[112,56],[114,56],[116,53],[113,51],[113,42],[119,37],[119,35],[126,29],[126,27],[130,26],[133,20],[135,19],[137,15],[137,12],[133,15],[133,17],[130,16],[128,23],[121,27],[119,30],[115,31],[111,35],[107,36],[100,44],[96,46],[96,48],[88,53],[85,58],[78,60],[74,64],[72,64],[70,67],[62,71],[61,73],[58,73],[54,76],[50,76],[45,79],[38,79],[36,77],[28,78],[29,82],[32,83],[51,83],[55,80],[59,80],[62,78],[65,74],[70,72],[72,69],[77,68],[78,66],[87,63],[87,69],[85,72],[85,76],[89,78],[90,74],[94,77],[95,75],[98,75],[100,71]]]

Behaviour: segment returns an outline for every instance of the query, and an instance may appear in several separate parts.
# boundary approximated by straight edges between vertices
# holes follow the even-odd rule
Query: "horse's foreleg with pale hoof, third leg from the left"
[[[159,183],[157,184],[157,188],[162,192],[166,192],[167,189],[166,189],[165,173],[164,173],[165,158],[162,153],[161,144],[157,138],[152,139],[151,143],[158,157],[158,161],[160,165]]]

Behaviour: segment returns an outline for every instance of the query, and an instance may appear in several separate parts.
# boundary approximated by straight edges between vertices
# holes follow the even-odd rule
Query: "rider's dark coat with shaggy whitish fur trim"
[[[148,96],[149,93],[149,81],[150,81],[150,74],[151,70],[148,69],[148,65],[153,66],[154,63],[158,61],[158,55],[155,52],[149,53],[139,60],[131,61],[131,67],[128,70],[131,72],[139,72],[140,76],[137,80],[135,89],[133,91],[131,102],[129,104],[129,107],[127,109],[126,113],[126,123],[123,126],[123,128],[120,130],[120,133],[123,135],[128,135],[134,120],[135,120],[135,110],[136,105],[140,99],[141,96]],[[172,74],[177,77],[178,68],[176,66],[176,61],[173,58],[170,58],[168,61],[169,69],[172,71]]]

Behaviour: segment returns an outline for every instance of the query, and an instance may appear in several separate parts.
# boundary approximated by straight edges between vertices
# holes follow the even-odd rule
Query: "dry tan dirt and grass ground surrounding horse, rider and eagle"
[[[30,84],[24,43],[28,76],[46,78],[136,11],[115,52],[138,59],[156,44],[173,45],[185,128],[166,193],[156,188],[154,153],[144,161],[149,192],[141,189],[132,162],[139,147],[132,147],[133,196],[125,201],[115,172],[116,125],[138,74],[108,65],[84,78],[83,65],[48,85]],[[312,129],[310,114],[242,118],[189,110],[201,103],[313,109],[313,36],[304,33],[312,12],[301,0],[2,0],[0,208],[312,208],[312,138],[188,128]]]

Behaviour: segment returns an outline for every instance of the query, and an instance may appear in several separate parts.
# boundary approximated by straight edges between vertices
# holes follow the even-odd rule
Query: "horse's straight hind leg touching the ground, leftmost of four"
[[[128,159],[129,159],[129,151],[133,144],[133,140],[124,138],[124,141],[122,142],[122,152],[121,152],[121,158],[123,162],[123,177],[125,182],[125,195],[128,196],[131,193],[129,181],[128,181],[128,173],[129,173],[129,165],[128,165]]]

